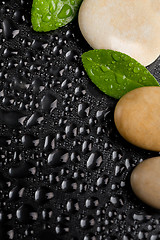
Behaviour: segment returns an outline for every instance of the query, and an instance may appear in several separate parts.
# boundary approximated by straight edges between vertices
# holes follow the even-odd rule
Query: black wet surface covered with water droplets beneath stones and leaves
[[[0,3],[0,239],[160,239],[159,212],[129,184],[159,153],[119,136],[116,100],[84,72],[77,19],[36,33],[31,3]]]

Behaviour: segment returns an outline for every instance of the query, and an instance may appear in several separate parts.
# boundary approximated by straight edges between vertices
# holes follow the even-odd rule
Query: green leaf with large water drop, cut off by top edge
[[[33,0],[31,22],[37,32],[48,32],[71,22],[82,0]]]

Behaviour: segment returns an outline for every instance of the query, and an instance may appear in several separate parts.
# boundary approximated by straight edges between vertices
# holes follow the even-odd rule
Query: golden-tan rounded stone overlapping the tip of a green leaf
[[[160,151],[160,87],[141,87],[128,92],[116,105],[114,121],[128,142]]]

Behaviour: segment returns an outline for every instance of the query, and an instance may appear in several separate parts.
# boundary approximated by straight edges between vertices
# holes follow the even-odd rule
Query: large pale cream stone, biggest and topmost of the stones
[[[145,66],[160,54],[160,0],[84,0],[78,21],[94,49],[120,51]]]

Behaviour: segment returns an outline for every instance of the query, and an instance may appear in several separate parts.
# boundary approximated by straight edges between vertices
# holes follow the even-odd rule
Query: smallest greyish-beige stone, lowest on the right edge
[[[131,174],[134,193],[146,204],[160,209],[160,157],[140,163]]]

